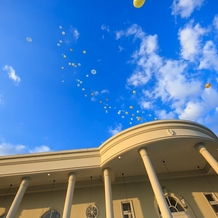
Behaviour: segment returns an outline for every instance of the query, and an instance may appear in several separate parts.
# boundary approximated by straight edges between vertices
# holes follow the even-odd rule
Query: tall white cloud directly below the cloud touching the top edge
[[[192,26],[189,23],[185,28],[179,30],[181,45],[181,56],[185,60],[195,61],[201,53],[201,36],[207,32],[199,24]]]

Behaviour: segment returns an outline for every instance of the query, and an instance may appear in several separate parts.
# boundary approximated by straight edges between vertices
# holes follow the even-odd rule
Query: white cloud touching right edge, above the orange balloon
[[[218,71],[218,51],[212,41],[207,41],[203,47],[203,56],[199,69],[214,69]]]

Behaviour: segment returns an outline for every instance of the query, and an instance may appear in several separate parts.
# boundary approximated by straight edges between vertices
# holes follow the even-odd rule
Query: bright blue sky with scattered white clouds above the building
[[[218,134],[217,8],[2,0],[0,155],[98,147],[163,119]]]

